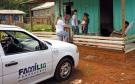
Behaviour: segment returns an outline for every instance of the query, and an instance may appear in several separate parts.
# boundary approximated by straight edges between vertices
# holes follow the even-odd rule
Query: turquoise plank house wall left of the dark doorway
[[[63,15],[63,3],[69,0],[61,0],[61,14]],[[70,0],[73,2],[73,8],[77,9],[78,20],[82,21],[83,13],[89,14],[89,33],[99,34],[99,0]],[[78,4],[79,2],[79,4]],[[56,0],[55,14],[58,15],[58,0]]]

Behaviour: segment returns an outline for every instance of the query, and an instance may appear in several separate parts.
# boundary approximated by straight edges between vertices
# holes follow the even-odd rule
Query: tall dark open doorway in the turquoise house
[[[100,0],[100,33],[110,36],[113,31],[113,0]]]

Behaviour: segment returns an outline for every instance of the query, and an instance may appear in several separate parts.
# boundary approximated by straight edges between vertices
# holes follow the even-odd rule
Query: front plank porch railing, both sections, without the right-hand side
[[[33,32],[38,37],[56,39],[54,32]],[[124,50],[125,42],[124,38],[118,37],[101,37],[101,36],[86,36],[86,35],[74,35],[73,43],[77,45],[95,46],[100,48]]]

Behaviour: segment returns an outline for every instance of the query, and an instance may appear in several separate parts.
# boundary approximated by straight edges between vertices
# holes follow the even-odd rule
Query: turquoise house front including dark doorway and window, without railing
[[[90,19],[88,32],[92,35],[109,36],[112,31],[122,29],[122,19],[129,23],[135,21],[135,0],[124,2],[124,18],[122,0],[55,0],[55,14],[64,16],[77,9],[78,20],[81,21],[86,12]],[[131,28],[128,34],[135,34],[135,28]]]

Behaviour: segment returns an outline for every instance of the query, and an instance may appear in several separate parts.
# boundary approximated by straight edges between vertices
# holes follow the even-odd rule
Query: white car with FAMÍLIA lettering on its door
[[[66,80],[78,61],[73,44],[41,40],[22,28],[0,25],[0,84]]]

